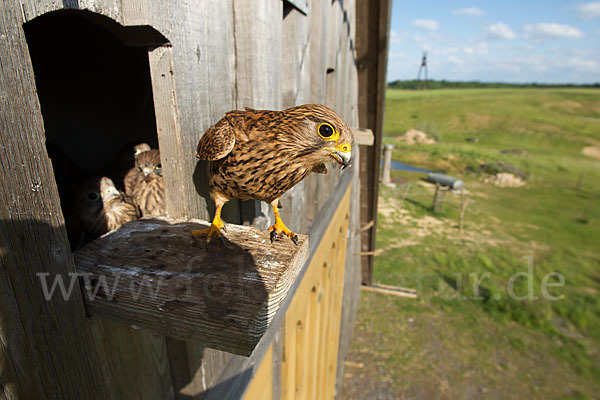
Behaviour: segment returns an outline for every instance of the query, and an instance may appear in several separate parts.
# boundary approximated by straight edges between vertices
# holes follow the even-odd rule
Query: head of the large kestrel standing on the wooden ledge
[[[323,164],[330,161],[337,162],[342,169],[351,165],[354,136],[335,111],[320,104],[306,104],[289,110],[304,117],[303,139],[307,149],[312,150],[309,159],[313,166],[322,169]]]

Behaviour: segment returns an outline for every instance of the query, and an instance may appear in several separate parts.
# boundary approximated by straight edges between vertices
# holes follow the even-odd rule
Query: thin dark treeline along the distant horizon
[[[393,81],[388,83],[389,88],[417,90],[423,89],[424,81]],[[479,81],[427,81],[427,89],[476,89],[476,88],[600,88],[600,82],[592,84],[574,83],[501,83],[501,82],[479,82]]]

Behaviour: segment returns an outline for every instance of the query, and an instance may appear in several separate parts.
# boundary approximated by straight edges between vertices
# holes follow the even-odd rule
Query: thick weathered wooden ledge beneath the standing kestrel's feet
[[[92,316],[248,356],[308,256],[308,237],[226,225],[225,245],[190,232],[205,221],[142,219],[75,253]]]

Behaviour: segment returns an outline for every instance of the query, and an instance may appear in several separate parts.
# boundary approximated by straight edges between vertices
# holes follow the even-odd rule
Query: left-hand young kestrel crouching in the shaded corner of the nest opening
[[[119,192],[107,177],[83,183],[73,201],[66,219],[74,250],[140,216],[131,199]]]

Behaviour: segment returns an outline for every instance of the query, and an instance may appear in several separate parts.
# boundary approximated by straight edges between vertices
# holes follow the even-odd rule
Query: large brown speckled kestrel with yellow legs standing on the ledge
[[[325,163],[350,166],[354,138],[332,109],[306,104],[283,111],[231,111],[206,130],[196,157],[208,160],[210,196],[216,212],[207,229],[192,235],[221,237],[221,208],[232,198],[262,200],[273,207],[271,241],[288,236],[298,244],[277,210],[279,198],[311,172],[327,173]]]

